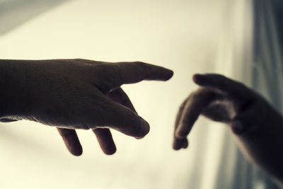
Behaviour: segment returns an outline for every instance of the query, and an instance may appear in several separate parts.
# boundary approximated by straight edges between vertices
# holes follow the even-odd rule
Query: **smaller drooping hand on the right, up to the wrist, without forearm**
[[[224,122],[234,134],[245,134],[267,124],[271,106],[258,93],[219,74],[196,74],[201,87],[180,106],[175,120],[173,148],[187,148],[187,135],[200,115]]]

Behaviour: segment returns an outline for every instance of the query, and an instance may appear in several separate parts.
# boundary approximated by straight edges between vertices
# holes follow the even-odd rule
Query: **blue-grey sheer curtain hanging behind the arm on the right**
[[[242,42],[236,45],[240,50],[231,47],[233,55],[231,59],[234,63],[231,67],[233,69],[231,76],[261,93],[280,112],[283,110],[282,41],[280,42],[279,38],[281,26],[275,15],[282,6],[282,2],[264,0],[250,1],[249,5],[246,4],[246,8],[251,9],[247,11],[249,16],[242,15],[245,20],[242,22],[245,24],[244,29],[241,30],[243,35],[240,35],[241,32],[236,33],[239,37],[242,36],[242,39],[236,38],[235,42]],[[220,159],[222,164],[219,166],[216,188],[278,188],[270,177],[249,164],[231,143],[233,143],[231,137],[226,134],[222,143]],[[232,151],[233,158],[229,156]],[[227,175],[230,175],[228,180]]]

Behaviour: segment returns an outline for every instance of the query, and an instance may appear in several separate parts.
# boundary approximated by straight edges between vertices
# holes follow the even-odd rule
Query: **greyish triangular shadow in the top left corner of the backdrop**
[[[68,0],[0,0],[0,35]]]

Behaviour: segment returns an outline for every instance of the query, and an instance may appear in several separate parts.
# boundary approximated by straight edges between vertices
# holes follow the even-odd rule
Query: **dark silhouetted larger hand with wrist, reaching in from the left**
[[[110,128],[141,138],[149,124],[137,115],[122,84],[167,81],[173,71],[143,62],[87,59],[0,60],[0,119],[57,127],[67,149],[82,147],[76,129],[93,130],[105,154],[116,151]]]

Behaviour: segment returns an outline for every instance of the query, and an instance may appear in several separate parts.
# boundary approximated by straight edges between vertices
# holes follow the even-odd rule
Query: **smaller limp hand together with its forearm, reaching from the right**
[[[253,164],[283,183],[283,118],[258,93],[219,74],[196,74],[200,88],[180,106],[173,149],[187,148],[187,135],[200,115],[224,122]]]

